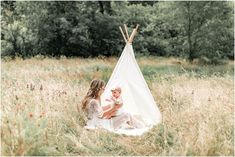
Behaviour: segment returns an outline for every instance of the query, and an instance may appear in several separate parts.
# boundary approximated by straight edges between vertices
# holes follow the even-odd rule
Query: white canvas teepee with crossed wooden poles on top
[[[128,34],[126,25],[124,25],[125,34],[119,27],[126,46],[105,87],[101,101],[105,104],[105,98],[111,95],[111,88],[120,86],[125,111],[141,118],[149,126],[153,126],[161,121],[161,113],[135,59],[132,41],[138,27],[139,25],[133,30],[131,36]]]

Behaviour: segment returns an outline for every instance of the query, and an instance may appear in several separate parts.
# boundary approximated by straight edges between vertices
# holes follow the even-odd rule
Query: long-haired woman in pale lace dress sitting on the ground
[[[143,127],[130,114],[123,113],[110,119],[104,119],[110,112],[115,112],[119,106],[105,112],[107,106],[101,107],[100,96],[104,92],[105,82],[95,79],[91,82],[90,88],[82,101],[82,109],[86,113],[90,128],[104,128],[108,130],[117,130],[119,128],[139,128]]]

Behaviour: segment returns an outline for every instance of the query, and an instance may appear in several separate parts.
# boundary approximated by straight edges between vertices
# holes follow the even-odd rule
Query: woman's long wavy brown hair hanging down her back
[[[105,82],[103,80],[94,79],[91,81],[90,88],[82,100],[82,110],[86,109],[86,106],[91,99],[96,99],[98,97],[98,93],[103,86],[105,86]]]

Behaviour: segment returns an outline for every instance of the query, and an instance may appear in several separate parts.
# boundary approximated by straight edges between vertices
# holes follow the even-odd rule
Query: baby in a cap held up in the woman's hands
[[[111,108],[114,108],[116,105],[119,105],[118,110],[115,112],[111,112],[109,115],[106,116],[106,118],[111,118],[120,115],[123,112],[122,106],[123,101],[121,97],[122,90],[120,87],[114,87],[111,89],[112,96],[109,99],[105,99],[108,104],[110,104]]]

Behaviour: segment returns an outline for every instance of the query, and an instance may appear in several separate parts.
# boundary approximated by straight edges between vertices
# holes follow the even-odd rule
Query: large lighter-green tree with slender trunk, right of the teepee
[[[159,2],[147,34],[149,50],[161,55],[216,60],[233,54],[233,9],[229,2]],[[226,43],[227,42],[227,43]],[[155,47],[155,49],[154,49]],[[159,48],[160,47],[160,48]],[[159,54],[159,52],[157,52]]]

